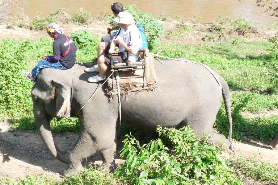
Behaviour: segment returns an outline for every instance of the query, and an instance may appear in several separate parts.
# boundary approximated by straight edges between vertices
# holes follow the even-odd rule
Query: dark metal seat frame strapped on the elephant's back
[[[145,78],[145,67],[146,67],[146,63],[145,63],[145,50],[138,50],[139,53],[143,52],[143,58],[141,58],[141,61],[138,62],[130,62],[128,60],[128,51],[117,51],[117,53],[123,53],[126,52],[127,53],[127,62],[123,62],[123,63],[113,63],[112,61],[112,55],[110,55],[110,63],[111,63],[111,71],[114,71],[116,76],[119,77],[119,71],[135,71],[135,70],[143,70],[143,76],[124,76],[124,77],[119,77],[119,79],[125,79],[125,78],[143,78],[144,81],[144,85],[143,87],[146,86],[146,78]],[[137,68],[137,67],[141,67],[141,68]],[[116,77],[114,76],[114,73],[112,74],[112,88],[115,88],[115,84],[114,84],[114,79],[116,79]]]

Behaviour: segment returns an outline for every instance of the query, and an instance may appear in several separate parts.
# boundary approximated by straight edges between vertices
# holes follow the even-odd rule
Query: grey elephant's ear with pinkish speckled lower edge
[[[58,118],[70,117],[70,88],[55,80],[52,80],[51,84],[55,88],[56,116]]]

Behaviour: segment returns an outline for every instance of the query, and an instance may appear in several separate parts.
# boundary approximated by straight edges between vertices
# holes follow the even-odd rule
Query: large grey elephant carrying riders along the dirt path
[[[232,149],[232,117],[230,89],[216,72],[215,78],[203,65],[178,60],[154,60],[158,87],[154,91],[131,92],[120,98],[121,125],[145,130],[163,128],[179,129],[189,125],[197,138],[210,134],[208,142]],[[118,100],[106,94],[102,82],[89,83],[87,79],[96,72],[85,72],[85,64],[76,63],[68,70],[45,68],[32,87],[33,113],[36,127],[50,150],[61,162],[67,164],[64,174],[76,174],[84,167],[83,159],[100,151],[104,169],[116,167],[115,153],[119,126]],[[221,88],[222,86],[222,88]],[[82,108],[90,99],[94,97]],[[229,140],[212,132],[216,115],[224,99],[229,125]],[[81,109],[82,108],[82,109]],[[68,157],[58,149],[50,129],[53,117],[78,116],[80,135]]]

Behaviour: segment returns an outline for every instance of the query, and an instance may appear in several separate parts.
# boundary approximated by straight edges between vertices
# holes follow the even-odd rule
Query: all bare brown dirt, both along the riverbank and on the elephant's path
[[[176,29],[175,22],[163,22],[166,27],[166,31],[169,32]],[[188,25],[194,25],[196,28],[190,35],[184,38],[172,38],[169,42],[193,44],[200,43],[205,44],[202,38],[207,34],[208,25],[201,26],[200,24],[187,23]],[[102,36],[106,34],[106,28],[109,25],[102,22],[91,23],[88,26],[76,26],[76,25],[63,25],[61,29],[65,31],[65,34],[78,31],[80,29],[89,29],[96,36]],[[263,28],[259,34],[252,37],[252,39],[263,40],[267,35],[274,34],[274,31]],[[23,28],[19,28],[9,24],[0,25],[0,38],[21,38],[38,40],[41,37],[48,37],[45,31],[31,31]],[[167,34],[162,38],[167,40]],[[249,38],[250,39],[250,38]],[[245,113],[246,116],[267,116],[278,115],[278,109],[274,111],[268,111],[267,114],[254,115],[251,113]],[[40,135],[33,131],[20,131],[10,132],[9,122],[0,122],[0,177],[9,177],[11,179],[24,179],[25,175],[32,174],[36,177],[40,177],[42,174],[52,176],[54,179],[61,179],[62,172],[66,168],[66,164],[59,162],[53,157],[44,145]],[[66,133],[63,135],[57,134],[54,136],[54,141],[57,143],[61,151],[68,154],[70,148],[77,141],[78,135],[74,133]],[[120,141],[119,141],[120,143]],[[256,156],[261,161],[271,162],[278,167],[278,150],[272,149],[271,143],[263,143],[260,141],[251,141],[243,143],[233,143],[234,153],[226,151],[224,155],[227,158],[230,157],[251,157]],[[116,163],[120,164],[123,160],[119,159],[119,150],[117,149]],[[84,162],[85,163],[85,162]],[[99,153],[94,154],[87,160],[87,164],[98,165],[101,163],[101,157]]]

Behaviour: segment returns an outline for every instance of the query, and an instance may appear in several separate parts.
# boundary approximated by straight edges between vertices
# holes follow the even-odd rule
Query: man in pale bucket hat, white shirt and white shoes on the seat
[[[128,51],[128,59],[126,52],[113,55],[112,62],[121,63],[129,60],[136,62],[139,60],[139,48],[142,45],[140,31],[136,27],[133,17],[129,12],[120,12],[114,19],[119,23],[120,29],[112,39],[111,43],[101,42],[98,46],[98,63],[97,65],[86,68],[86,72],[99,72],[99,75],[92,76],[88,79],[89,82],[99,82],[106,79],[107,65],[110,64],[110,54],[115,53],[115,46],[119,45],[119,50]]]

